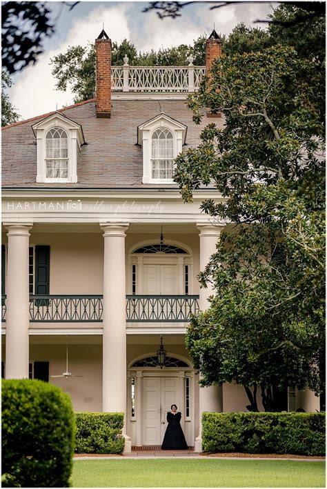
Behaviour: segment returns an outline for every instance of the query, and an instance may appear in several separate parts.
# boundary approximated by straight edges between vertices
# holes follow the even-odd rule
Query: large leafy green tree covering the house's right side
[[[257,409],[289,385],[321,389],[324,352],[324,84],[321,63],[290,47],[223,55],[189,106],[224,114],[177,158],[185,201],[214,181],[202,210],[233,223],[200,274],[215,295],[187,345],[204,385],[235,379]],[[255,386],[254,392],[250,386]]]

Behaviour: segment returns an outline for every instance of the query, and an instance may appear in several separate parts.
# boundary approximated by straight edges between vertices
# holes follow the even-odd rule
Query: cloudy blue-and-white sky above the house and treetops
[[[181,43],[191,44],[201,34],[215,30],[229,34],[239,22],[247,26],[258,26],[253,22],[266,19],[276,3],[237,3],[210,10],[212,3],[196,2],[182,10],[177,19],[159,19],[153,11],[142,12],[149,5],[145,1],[81,1],[72,10],[62,2],[49,1],[55,19],[56,32],[43,44],[44,52],[37,63],[24,68],[12,77],[14,85],[8,90],[10,101],[21,119],[28,119],[62,106],[71,105],[70,90],[56,90],[56,79],[51,74],[50,59],[65,52],[68,46],[86,46],[94,42],[104,28],[112,41],[129,39],[137,50],[170,48]],[[259,24],[265,28],[265,24]]]

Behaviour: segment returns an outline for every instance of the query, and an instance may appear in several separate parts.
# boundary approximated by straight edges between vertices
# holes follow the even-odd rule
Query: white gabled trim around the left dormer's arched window
[[[68,177],[46,177],[46,135],[49,130],[59,127],[66,131],[68,136]],[[76,183],[77,182],[77,158],[79,149],[84,143],[83,132],[79,124],[70,121],[67,117],[57,113],[32,126],[37,138],[37,182],[40,183]]]

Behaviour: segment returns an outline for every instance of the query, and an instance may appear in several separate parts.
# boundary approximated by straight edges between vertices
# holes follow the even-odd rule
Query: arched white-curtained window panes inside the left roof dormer
[[[46,178],[68,178],[68,136],[61,128],[46,135]]]

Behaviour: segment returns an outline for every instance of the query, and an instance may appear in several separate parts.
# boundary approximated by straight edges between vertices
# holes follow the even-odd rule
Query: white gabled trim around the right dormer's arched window
[[[138,128],[138,142],[143,147],[143,178],[142,183],[157,183],[159,185],[171,185],[175,183],[172,179],[152,179],[151,168],[151,141],[153,133],[159,128],[166,128],[172,132],[173,144],[174,144],[174,159],[183,150],[183,143],[186,138],[186,126],[174,119],[171,119],[166,114],[161,113],[154,119],[141,124]]]

